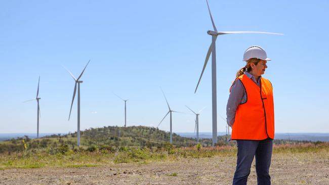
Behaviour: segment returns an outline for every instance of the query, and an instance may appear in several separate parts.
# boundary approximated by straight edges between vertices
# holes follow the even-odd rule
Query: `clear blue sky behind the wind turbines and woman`
[[[274,87],[276,132],[329,132],[329,1],[209,0],[219,31],[268,31],[217,39],[218,131],[225,131],[231,81],[243,52],[261,45],[263,75]],[[205,0],[1,1],[0,133],[36,132],[40,76],[40,132],[74,132],[75,76],[81,80],[81,130],[127,124],[156,127],[173,110],[198,111],[199,131],[212,131],[211,63],[194,94],[212,29]],[[225,116],[226,117],[226,116]],[[169,130],[169,117],[159,129]],[[193,132],[194,116],[173,113],[174,132]]]

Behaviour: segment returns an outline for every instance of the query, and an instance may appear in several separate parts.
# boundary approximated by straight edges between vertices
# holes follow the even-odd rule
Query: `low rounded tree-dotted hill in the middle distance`
[[[76,133],[64,135],[64,137],[76,137]],[[156,147],[170,142],[170,132],[146,126],[104,126],[102,128],[90,128],[81,131],[81,145],[108,145],[108,146],[138,146]],[[203,145],[210,145],[209,139],[200,140]],[[196,139],[182,137],[173,133],[173,144],[176,146],[194,146]]]

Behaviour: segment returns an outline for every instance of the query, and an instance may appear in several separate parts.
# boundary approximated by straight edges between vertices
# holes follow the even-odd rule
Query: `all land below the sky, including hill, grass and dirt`
[[[121,129],[120,135],[115,135]],[[97,136],[93,136],[97,135]],[[148,127],[103,127],[31,140],[0,142],[0,184],[231,184],[236,143]],[[255,160],[249,184],[256,184]],[[273,184],[329,184],[329,143],[274,140]]]

